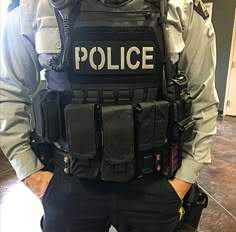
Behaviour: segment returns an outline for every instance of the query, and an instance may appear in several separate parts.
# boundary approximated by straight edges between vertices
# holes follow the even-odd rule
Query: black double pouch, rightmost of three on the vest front
[[[159,170],[159,151],[166,143],[169,102],[139,103],[135,111],[136,156],[142,174]]]

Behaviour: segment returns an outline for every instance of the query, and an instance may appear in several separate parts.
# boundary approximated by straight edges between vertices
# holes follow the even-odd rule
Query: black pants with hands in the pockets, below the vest
[[[173,232],[181,200],[168,180],[132,183],[82,180],[55,172],[43,198],[43,232]]]

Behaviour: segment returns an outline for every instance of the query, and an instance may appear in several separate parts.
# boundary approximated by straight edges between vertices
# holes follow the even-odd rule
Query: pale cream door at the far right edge
[[[231,61],[229,66],[228,96],[226,115],[236,116],[236,11],[234,17],[233,39],[231,46]]]

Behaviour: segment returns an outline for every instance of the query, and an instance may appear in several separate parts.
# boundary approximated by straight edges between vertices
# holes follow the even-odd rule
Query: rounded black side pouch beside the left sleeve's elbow
[[[59,92],[41,90],[32,102],[37,134],[48,143],[56,142],[61,134]]]

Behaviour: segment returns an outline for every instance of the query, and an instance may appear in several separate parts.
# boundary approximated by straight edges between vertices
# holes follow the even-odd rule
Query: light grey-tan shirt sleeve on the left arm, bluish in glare
[[[24,14],[17,7],[7,15],[0,76],[0,146],[20,180],[43,168],[30,146],[30,95],[38,88],[41,67],[24,9]]]

